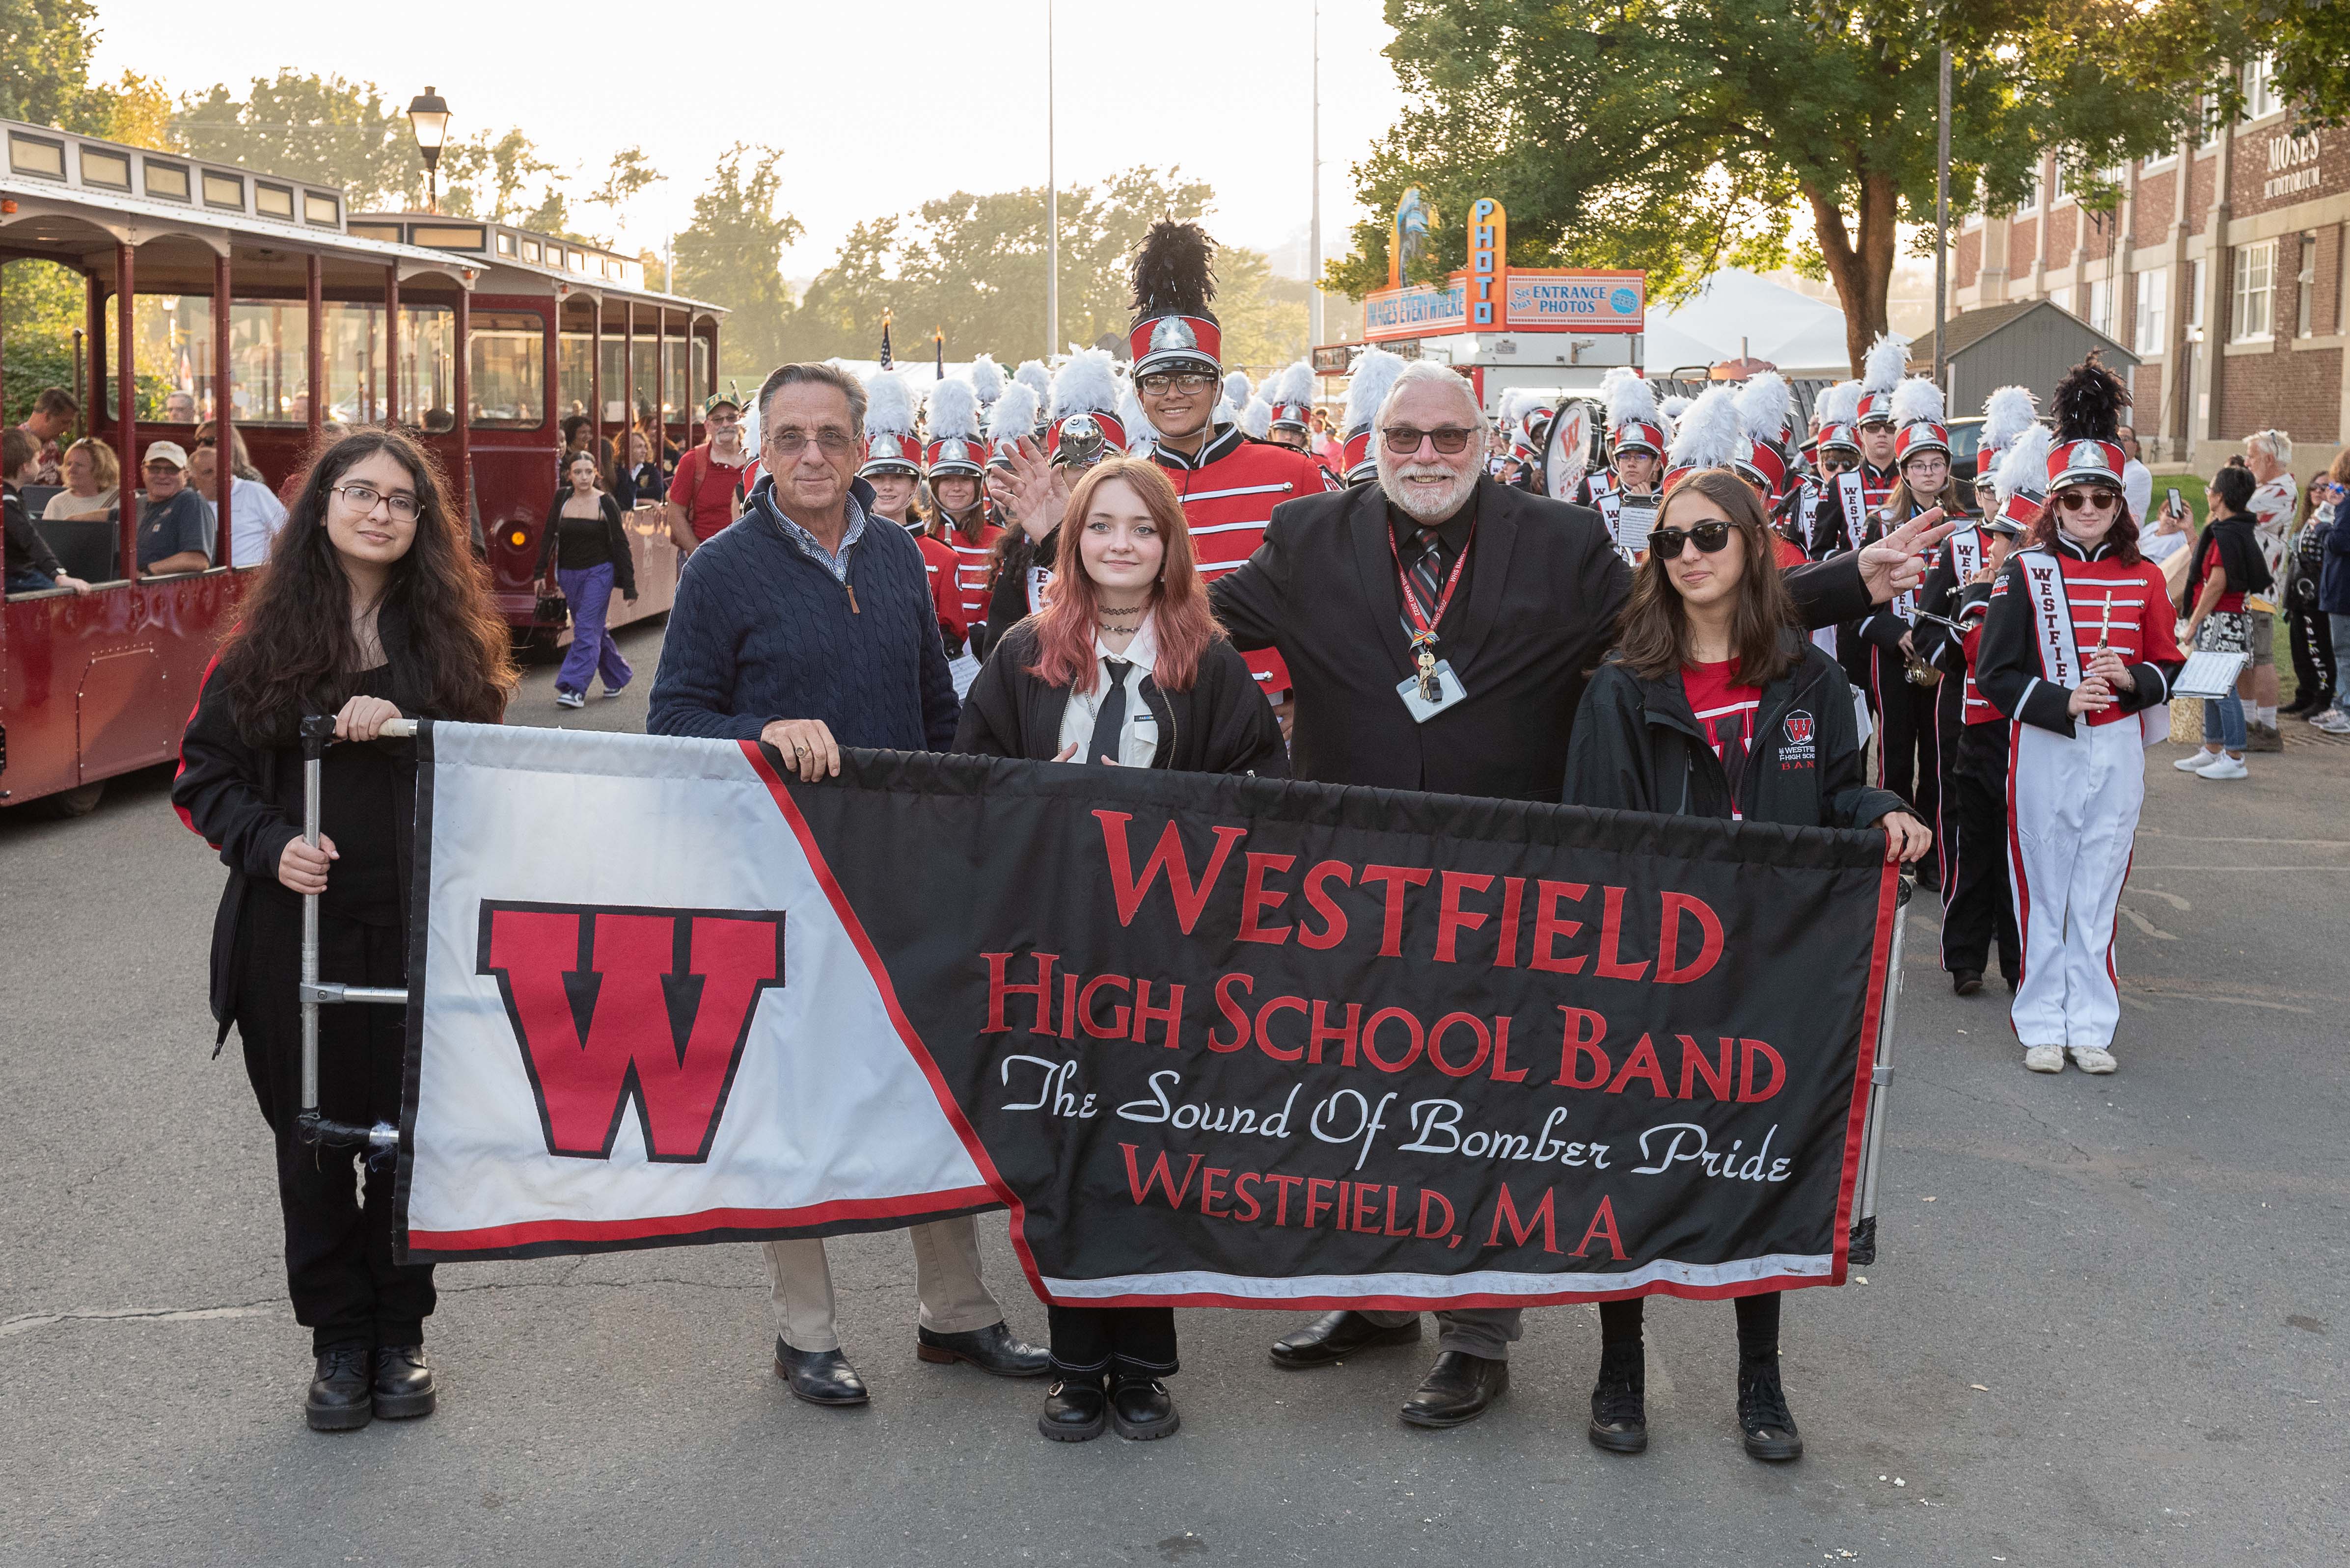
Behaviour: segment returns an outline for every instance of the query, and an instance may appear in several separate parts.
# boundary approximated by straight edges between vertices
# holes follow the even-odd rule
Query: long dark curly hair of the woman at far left
[[[392,563],[378,606],[381,620],[409,629],[397,676],[402,707],[475,723],[505,714],[517,681],[512,641],[489,603],[489,582],[439,465],[407,432],[362,425],[310,460],[244,617],[221,646],[214,678],[235,702],[237,730],[256,746],[289,742],[306,711],[331,714],[350,697],[360,643],[327,507],[343,474],[376,453],[409,472],[418,505],[416,542]]]

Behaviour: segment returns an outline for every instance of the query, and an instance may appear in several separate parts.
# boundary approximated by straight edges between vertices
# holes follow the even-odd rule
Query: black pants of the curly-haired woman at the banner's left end
[[[237,1033],[261,1115],[277,1134],[277,1204],[287,1221],[287,1293],[315,1352],[329,1345],[421,1345],[432,1314],[432,1268],[392,1263],[392,1164],[355,1169],[345,1148],[303,1148],[301,906],[263,890],[244,901]],[[350,986],[404,986],[397,925],[320,915],[320,976]],[[404,1054],[400,1007],[322,1007],[317,1106],[334,1122],[400,1122]]]

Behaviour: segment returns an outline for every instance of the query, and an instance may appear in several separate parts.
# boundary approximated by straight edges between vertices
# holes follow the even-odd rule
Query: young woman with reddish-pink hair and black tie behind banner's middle
[[[1281,723],[1208,610],[1182,500],[1156,462],[1076,481],[1053,596],[987,655],[956,751],[1107,768],[1290,777]],[[1053,1305],[1036,1430],[1062,1444],[1170,1434],[1173,1307]]]

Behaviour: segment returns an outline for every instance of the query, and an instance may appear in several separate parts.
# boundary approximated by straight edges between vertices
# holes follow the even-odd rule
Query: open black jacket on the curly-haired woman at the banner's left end
[[[407,622],[385,606],[376,627],[383,638],[385,662],[392,667],[395,692],[400,671],[409,664]],[[237,711],[228,692],[214,681],[219,664],[204,671],[204,683],[195,692],[195,714],[179,739],[179,777],[172,779],[172,805],[179,819],[221,852],[228,866],[228,885],[221,890],[221,908],[212,920],[212,1016],[228,1040],[228,1026],[237,1019],[237,976],[244,965],[240,932],[244,901],[254,885],[277,883],[277,857],[301,838],[303,815],[303,761],[301,744],[256,746],[237,730]],[[402,716],[430,718],[407,695],[392,697]],[[331,714],[338,702],[322,699],[315,711]],[[416,746],[414,742],[371,742],[383,746],[400,763],[404,779],[402,810],[392,822],[397,859],[409,864],[416,845]],[[409,880],[400,876],[402,918],[407,930]]]

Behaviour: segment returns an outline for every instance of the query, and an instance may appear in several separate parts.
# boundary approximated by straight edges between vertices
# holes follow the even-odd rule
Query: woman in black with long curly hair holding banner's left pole
[[[324,976],[407,984],[416,763],[407,744],[329,749],[310,847],[298,721],[334,714],[341,739],[374,739],[397,716],[496,723],[512,688],[505,622],[439,469],[411,437],[367,427],[303,479],[181,739],[172,803],[228,864],[212,1014],[221,1040],[237,1026],[277,1134],[287,1286],[317,1357],[303,1406],[317,1432],[432,1411],[432,1270],[392,1263],[392,1167],[367,1167],[362,1202],[355,1155],[303,1145],[296,1124],[303,894],[320,894]],[[404,1035],[395,1007],[322,1009],[320,1113],[397,1122]]]

